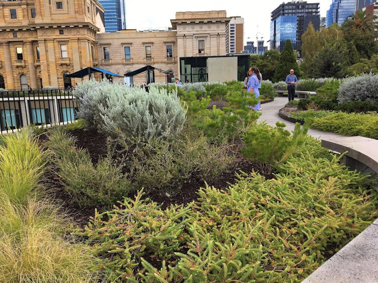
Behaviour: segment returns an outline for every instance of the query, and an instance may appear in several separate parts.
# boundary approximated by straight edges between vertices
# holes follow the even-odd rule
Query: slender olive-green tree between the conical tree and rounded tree
[[[320,32],[315,31],[312,22],[308,24],[306,32],[302,34],[302,63],[301,69],[304,75],[308,75],[311,67],[311,62],[316,52],[321,49]]]

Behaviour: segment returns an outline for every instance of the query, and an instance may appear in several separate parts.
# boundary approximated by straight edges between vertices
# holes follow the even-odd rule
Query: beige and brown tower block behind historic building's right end
[[[244,41],[244,18],[231,17],[226,26],[226,54],[241,53]]]

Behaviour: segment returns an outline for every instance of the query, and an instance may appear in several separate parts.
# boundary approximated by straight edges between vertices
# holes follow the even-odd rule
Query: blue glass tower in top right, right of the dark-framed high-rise
[[[326,26],[336,22],[342,25],[348,16],[354,14],[356,0],[333,0],[327,10]]]

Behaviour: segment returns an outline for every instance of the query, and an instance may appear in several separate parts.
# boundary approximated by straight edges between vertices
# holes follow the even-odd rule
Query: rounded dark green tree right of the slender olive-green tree
[[[344,77],[350,65],[348,48],[343,41],[326,43],[318,51],[311,64],[311,77]]]

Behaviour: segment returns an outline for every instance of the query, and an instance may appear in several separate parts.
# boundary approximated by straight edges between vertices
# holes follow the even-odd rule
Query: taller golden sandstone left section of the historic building
[[[97,0],[0,0],[0,85],[68,86],[65,74],[98,64]]]

